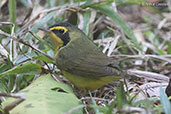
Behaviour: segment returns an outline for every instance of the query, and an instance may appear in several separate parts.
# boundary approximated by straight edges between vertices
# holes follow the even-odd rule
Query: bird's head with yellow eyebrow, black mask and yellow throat
[[[72,40],[80,38],[84,33],[68,22],[59,22],[47,28],[39,28],[46,32],[54,47],[55,53],[61,48],[69,44]]]

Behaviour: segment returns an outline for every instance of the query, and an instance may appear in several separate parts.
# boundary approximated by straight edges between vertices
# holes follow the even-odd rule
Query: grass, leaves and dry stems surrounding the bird
[[[0,113],[171,113],[169,0],[1,0]],[[78,26],[123,79],[82,95],[54,65],[39,31],[56,22]],[[52,78],[53,77],[53,78]],[[171,90],[170,90],[171,91]]]

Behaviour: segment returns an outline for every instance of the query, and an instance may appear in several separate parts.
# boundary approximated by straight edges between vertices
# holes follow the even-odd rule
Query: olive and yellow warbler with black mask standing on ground
[[[102,53],[74,25],[60,22],[39,29],[50,36],[57,67],[77,88],[95,90],[121,78],[117,62]]]

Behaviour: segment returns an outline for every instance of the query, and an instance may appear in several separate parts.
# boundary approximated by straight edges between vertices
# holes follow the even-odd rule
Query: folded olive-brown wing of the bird
[[[72,56],[69,56],[70,58],[63,57],[63,61],[60,61],[61,63],[58,65],[59,68],[77,76],[103,77],[120,75],[120,71],[114,67],[117,66],[116,63],[113,63],[99,49],[83,52],[75,55],[75,58],[72,58]]]

